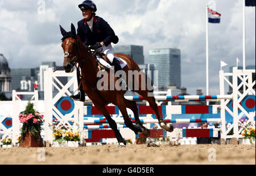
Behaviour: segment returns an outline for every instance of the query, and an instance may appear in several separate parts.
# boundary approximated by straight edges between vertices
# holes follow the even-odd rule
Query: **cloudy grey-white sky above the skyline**
[[[0,0],[0,53],[9,67],[35,68],[42,61],[63,62],[59,24],[67,31],[82,19],[76,0]],[[242,66],[241,0],[94,0],[97,15],[112,26],[118,45],[148,50],[181,50],[181,85],[189,94],[205,84],[205,5],[221,14],[209,24],[209,94],[219,94],[220,61]],[[45,9],[44,6],[45,5]],[[246,7],[246,65],[255,65],[255,7]]]

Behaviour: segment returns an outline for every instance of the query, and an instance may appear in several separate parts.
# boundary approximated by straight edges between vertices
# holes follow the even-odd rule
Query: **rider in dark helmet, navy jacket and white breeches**
[[[100,16],[96,16],[97,7],[93,1],[86,0],[79,5],[84,19],[77,23],[77,35],[80,37],[85,46],[91,46],[90,49],[100,50],[104,53],[114,66],[115,72],[122,70],[119,61],[114,57],[114,51],[111,43],[117,44],[118,37],[113,29]],[[81,78],[77,74],[77,81],[80,85]],[[71,98],[84,102],[85,93],[82,86],[79,87],[80,92],[77,95],[71,95]]]

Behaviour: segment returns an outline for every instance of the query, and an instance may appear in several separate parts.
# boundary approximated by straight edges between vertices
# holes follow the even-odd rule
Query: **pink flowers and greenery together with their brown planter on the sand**
[[[23,123],[20,132],[19,147],[42,147],[43,141],[40,135],[43,115],[35,112],[34,104],[28,100],[23,114],[19,115],[19,121]]]

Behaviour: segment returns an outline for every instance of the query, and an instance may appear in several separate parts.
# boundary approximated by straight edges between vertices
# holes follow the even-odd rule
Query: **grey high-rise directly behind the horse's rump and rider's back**
[[[123,53],[130,56],[138,64],[144,64],[143,46],[115,45],[114,53]]]

